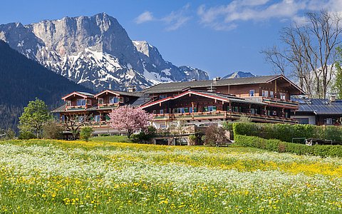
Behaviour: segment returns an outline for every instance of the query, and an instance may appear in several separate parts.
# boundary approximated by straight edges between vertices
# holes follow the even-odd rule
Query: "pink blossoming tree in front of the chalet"
[[[147,113],[142,108],[130,106],[120,106],[109,113],[110,127],[117,130],[128,131],[128,138],[135,131],[140,131],[150,125],[152,114]]]

